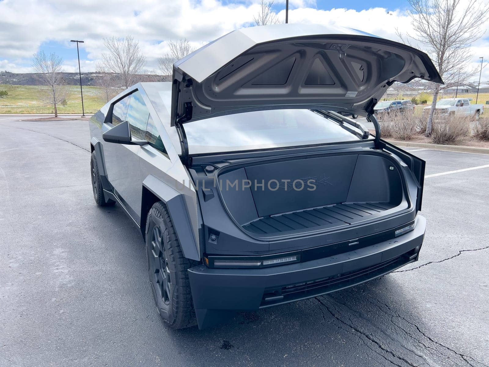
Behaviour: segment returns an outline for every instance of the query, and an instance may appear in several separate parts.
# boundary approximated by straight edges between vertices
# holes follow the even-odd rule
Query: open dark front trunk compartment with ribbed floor
[[[378,152],[229,166],[219,182],[228,213],[254,236],[335,229],[408,207],[398,163]]]

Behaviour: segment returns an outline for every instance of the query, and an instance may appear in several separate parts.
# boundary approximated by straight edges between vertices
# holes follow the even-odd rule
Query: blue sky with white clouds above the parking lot
[[[76,45],[69,42],[77,39],[85,41],[80,44],[82,72],[94,71],[105,51],[105,37],[132,35],[147,58],[146,70],[158,72],[157,58],[168,50],[169,40],[187,38],[200,47],[234,29],[252,26],[259,2],[0,0],[0,70],[31,72],[32,55],[42,50],[61,56],[65,71],[78,71]],[[396,29],[401,34],[412,32],[408,8],[407,0],[289,0],[289,23],[336,24],[400,41]],[[273,10],[285,20],[285,0],[275,0]],[[481,33],[483,37],[469,49],[473,64],[468,67],[480,65],[480,56],[489,60],[489,22]],[[482,80],[489,80],[489,67]]]

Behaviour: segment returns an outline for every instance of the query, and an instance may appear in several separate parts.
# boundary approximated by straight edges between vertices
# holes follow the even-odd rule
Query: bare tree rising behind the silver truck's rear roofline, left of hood
[[[139,43],[132,36],[126,38],[104,38],[104,45],[109,52],[102,54],[104,68],[113,73],[115,85],[126,89],[137,83],[137,74],[146,65],[146,58],[141,53]]]

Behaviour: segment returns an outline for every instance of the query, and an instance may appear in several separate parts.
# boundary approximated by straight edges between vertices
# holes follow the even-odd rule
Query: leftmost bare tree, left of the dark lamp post
[[[42,85],[47,86],[45,94],[41,94],[41,101],[49,106],[54,106],[54,116],[58,117],[58,104],[62,103],[67,97],[67,88],[63,79],[63,58],[55,53],[47,56],[44,51],[35,53],[32,60],[34,77]]]

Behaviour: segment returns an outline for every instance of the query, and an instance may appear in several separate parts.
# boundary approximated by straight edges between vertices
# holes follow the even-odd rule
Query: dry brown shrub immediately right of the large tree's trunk
[[[457,144],[467,138],[471,117],[437,116],[433,118],[431,140],[435,144]]]

